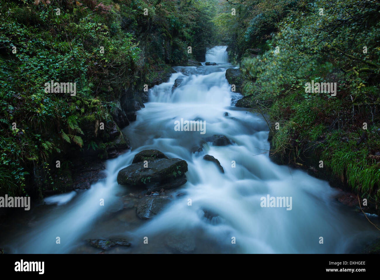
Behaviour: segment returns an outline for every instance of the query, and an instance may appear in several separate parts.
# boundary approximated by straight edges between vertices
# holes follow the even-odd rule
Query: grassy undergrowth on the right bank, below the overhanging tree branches
[[[274,133],[272,149],[280,155],[290,153],[294,162],[302,162],[298,158],[305,150],[315,150],[343,183],[379,200],[380,166],[374,155],[380,150],[379,120],[369,126],[366,144],[358,145],[363,130],[353,131],[348,116],[341,112],[339,100],[304,99],[302,91],[277,99],[270,114],[280,129]]]

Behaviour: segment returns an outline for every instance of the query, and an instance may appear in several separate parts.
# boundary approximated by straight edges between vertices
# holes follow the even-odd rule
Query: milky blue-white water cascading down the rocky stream
[[[217,66],[174,67],[177,73],[149,91],[145,109],[124,129],[132,150],[106,161],[107,178],[89,190],[46,198],[49,204],[15,218],[3,229],[0,248],[9,253],[97,253],[86,240],[119,237],[132,246],[107,252],[351,253],[377,236],[363,215],[336,201],[339,191],[326,181],[269,160],[265,120],[233,106],[241,95],[231,92],[225,78],[226,69],[234,68],[225,49],[218,46],[206,55]],[[172,92],[177,78],[182,82]],[[181,118],[204,121],[206,133],[174,130]],[[234,144],[205,143],[203,152],[192,152],[202,138],[214,134]],[[135,208],[123,207],[123,199],[136,190],[116,182],[118,171],[144,149],[188,163],[187,183],[149,221],[138,219]],[[217,158],[225,173],[203,160],[204,154]],[[267,195],[291,197],[291,210],[261,207],[261,197]],[[102,198],[105,206],[100,206]]]

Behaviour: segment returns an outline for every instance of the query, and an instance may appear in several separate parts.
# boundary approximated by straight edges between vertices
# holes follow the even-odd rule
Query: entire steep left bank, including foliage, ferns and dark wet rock
[[[204,60],[211,2],[2,1],[0,195],[88,188],[102,160],[129,149],[147,88]],[[188,46],[192,51],[188,51]],[[71,83],[75,93],[45,91]]]

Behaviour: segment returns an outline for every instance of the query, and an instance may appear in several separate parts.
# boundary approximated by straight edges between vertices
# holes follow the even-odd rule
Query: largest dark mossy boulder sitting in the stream
[[[165,183],[180,178],[187,172],[187,162],[180,158],[159,158],[148,161],[145,168],[141,162],[132,163],[119,171],[117,183],[120,185],[146,185],[150,182]]]

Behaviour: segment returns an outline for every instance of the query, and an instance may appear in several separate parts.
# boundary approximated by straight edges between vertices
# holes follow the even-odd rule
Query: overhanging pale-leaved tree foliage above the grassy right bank
[[[361,27],[364,23],[359,24],[357,20],[369,20],[370,16],[378,19],[379,5],[372,3],[364,10],[356,10],[356,5],[356,0],[345,1],[344,4],[320,0],[299,7],[306,11],[291,12],[278,25],[279,32],[267,43],[270,50],[256,58],[245,59],[242,63],[244,74],[263,86],[269,98],[270,95],[279,95],[290,88],[304,87],[307,81],[330,82],[326,80],[328,76],[321,77],[321,73],[326,74],[333,69],[352,71],[353,67],[363,69],[370,66],[374,73],[378,73],[380,61],[377,48],[366,56],[363,54],[363,46],[376,45],[374,34],[378,34],[380,26],[378,23],[369,23],[368,28],[364,29]],[[318,7],[321,6],[329,7],[325,10],[325,16],[318,14]],[[329,12],[332,10],[334,13]],[[341,23],[342,18],[348,18],[348,22]],[[279,53],[275,52],[276,47]],[[351,59],[336,59],[342,54]],[[357,86],[360,83],[365,85],[370,72],[372,71],[359,70],[359,75],[337,82],[341,88],[345,86],[344,83],[351,88],[355,87],[353,93],[357,95]],[[307,80],[305,73],[309,74]]]

